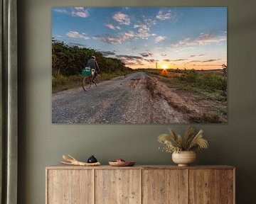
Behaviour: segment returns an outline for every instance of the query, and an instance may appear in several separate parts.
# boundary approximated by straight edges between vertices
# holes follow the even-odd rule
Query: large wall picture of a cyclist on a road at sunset
[[[53,7],[52,123],[226,123],[226,7]]]

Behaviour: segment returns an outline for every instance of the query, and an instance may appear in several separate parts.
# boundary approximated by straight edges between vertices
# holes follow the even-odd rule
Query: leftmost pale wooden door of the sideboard
[[[92,170],[48,169],[47,204],[92,204]]]

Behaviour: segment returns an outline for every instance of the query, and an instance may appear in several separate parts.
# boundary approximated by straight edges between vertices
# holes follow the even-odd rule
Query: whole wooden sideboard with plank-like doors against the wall
[[[46,204],[234,204],[233,166],[46,167]]]

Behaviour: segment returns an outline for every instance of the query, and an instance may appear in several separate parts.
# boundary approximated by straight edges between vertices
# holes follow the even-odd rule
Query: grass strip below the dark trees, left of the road
[[[130,73],[130,72],[129,72]],[[126,74],[129,74],[128,72]],[[111,72],[111,73],[100,73],[102,81],[110,80],[114,77],[124,76],[124,72]],[[52,93],[59,91],[65,91],[76,87],[82,87],[82,79],[84,77],[80,74],[65,77],[62,74],[53,74],[52,76]]]

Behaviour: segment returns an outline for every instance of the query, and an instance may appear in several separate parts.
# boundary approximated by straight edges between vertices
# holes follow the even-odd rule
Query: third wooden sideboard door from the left
[[[185,169],[144,169],[142,203],[185,204],[188,202]]]

